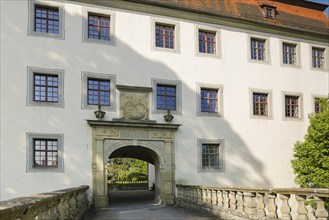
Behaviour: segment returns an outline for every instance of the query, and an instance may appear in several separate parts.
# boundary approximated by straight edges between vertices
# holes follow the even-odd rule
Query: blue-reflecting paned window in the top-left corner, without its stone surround
[[[59,34],[59,9],[35,5],[34,31]]]

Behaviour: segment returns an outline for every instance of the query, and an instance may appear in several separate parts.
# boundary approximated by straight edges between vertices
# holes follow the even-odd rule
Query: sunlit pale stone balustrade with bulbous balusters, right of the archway
[[[176,185],[177,205],[221,219],[328,219],[329,189]],[[313,205],[305,204],[312,201]],[[315,208],[312,208],[315,207]]]

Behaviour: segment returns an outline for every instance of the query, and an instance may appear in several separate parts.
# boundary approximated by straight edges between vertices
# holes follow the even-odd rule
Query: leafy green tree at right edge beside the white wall
[[[304,142],[297,141],[291,161],[295,181],[303,188],[329,188],[329,98],[319,100],[321,112],[310,114]]]

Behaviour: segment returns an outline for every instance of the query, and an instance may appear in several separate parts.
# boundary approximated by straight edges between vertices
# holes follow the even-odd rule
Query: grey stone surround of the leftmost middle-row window
[[[34,74],[55,75],[58,77],[58,102],[34,101]],[[64,108],[64,70],[27,67],[27,106]]]

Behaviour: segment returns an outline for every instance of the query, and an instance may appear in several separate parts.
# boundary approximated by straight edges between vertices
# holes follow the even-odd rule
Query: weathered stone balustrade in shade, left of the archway
[[[82,219],[89,209],[89,186],[41,193],[0,202],[1,219]]]

